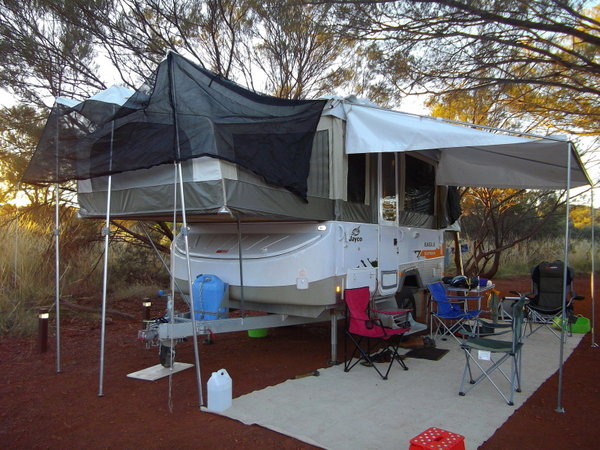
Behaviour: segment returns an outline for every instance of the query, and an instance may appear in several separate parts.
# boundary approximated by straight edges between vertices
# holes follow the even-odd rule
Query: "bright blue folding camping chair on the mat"
[[[480,300],[480,296],[458,297],[449,296],[446,288],[441,281],[428,284],[427,288],[431,294],[431,299],[436,305],[436,310],[432,308],[430,321],[430,334],[432,339],[440,336],[450,335],[460,344],[461,341],[455,336],[457,332],[464,329],[466,321],[476,320],[481,312],[478,309],[467,309],[468,300]],[[434,334],[434,322],[437,323]],[[450,323],[450,324],[448,324]],[[477,326],[477,324],[476,324]],[[440,333],[440,330],[441,333]]]

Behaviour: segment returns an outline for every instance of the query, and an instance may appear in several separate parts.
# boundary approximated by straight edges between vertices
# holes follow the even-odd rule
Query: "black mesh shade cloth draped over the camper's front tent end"
[[[61,183],[200,156],[245,167],[306,198],[306,179],[324,100],[256,94],[170,52],[150,83],[120,108],[57,104],[24,174]]]

